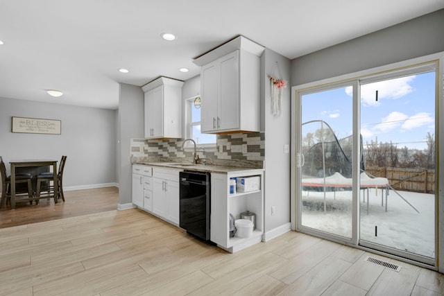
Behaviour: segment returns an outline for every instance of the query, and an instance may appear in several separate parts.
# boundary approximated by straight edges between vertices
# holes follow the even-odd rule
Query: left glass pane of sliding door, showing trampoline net
[[[298,227],[352,238],[352,97],[349,85],[298,98]]]

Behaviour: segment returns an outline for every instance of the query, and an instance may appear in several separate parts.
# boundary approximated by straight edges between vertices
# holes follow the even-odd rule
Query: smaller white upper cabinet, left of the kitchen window
[[[183,81],[157,78],[145,92],[145,139],[182,138]]]

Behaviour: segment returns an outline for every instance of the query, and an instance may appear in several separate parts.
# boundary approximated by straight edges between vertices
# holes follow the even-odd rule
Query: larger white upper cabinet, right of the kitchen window
[[[239,36],[194,60],[201,67],[202,132],[259,131],[263,51],[263,46]]]

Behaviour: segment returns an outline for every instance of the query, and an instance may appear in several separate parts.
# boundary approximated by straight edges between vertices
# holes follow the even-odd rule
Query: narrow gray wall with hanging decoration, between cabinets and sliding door
[[[265,49],[262,54],[261,127],[265,132],[265,232],[290,222],[291,159],[289,153],[284,153],[284,145],[291,141],[291,87],[288,86],[284,89],[282,114],[273,116],[271,112],[271,84],[268,78],[268,75],[271,75],[289,82],[290,64],[290,60],[269,49]],[[271,216],[272,206],[275,206],[274,216]]]

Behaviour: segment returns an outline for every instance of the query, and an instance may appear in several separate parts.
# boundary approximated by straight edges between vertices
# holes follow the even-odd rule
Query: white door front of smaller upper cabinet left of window
[[[163,135],[163,85],[145,93],[145,138]]]

